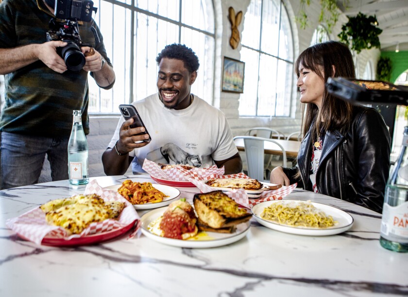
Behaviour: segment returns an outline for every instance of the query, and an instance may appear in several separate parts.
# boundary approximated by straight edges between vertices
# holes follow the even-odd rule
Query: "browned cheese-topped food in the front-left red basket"
[[[40,206],[48,224],[64,228],[68,234],[79,234],[89,224],[116,219],[125,207],[121,201],[105,201],[99,195],[76,195],[51,200]]]

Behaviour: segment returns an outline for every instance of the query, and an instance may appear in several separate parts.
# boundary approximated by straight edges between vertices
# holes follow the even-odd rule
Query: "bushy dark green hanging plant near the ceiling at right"
[[[378,28],[376,16],[366,16],[358,13],[348,17],[349,21],[341,27],[340,41],[347,44],[351,50],[359,53],[363,49],[380,48],[378,35],[382,30]]]

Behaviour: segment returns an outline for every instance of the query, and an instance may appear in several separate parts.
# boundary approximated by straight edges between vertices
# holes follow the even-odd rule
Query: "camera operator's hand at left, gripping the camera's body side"
[[[36,54],[39,60],[45,65],[58,73],[64,73],[67,71],[67,66],[64,60],[58,55],[57,48],[62,48],[67,45],[63,41],[48,41],[41,45],[36,50]]]

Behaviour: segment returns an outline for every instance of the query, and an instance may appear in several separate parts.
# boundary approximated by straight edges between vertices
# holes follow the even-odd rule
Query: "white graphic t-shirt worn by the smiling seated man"
[[[132,162],[135,174],[144,172],[145,158],[156,163],[208,167],[214,165],[213,160],[225,160],[238,152],[224,114],[197,96],[182,110],[166,108],[158,93],[132,105],[152,138],[147,146],[129,153],[129,156],[136,157]],[[113,148],[119,139],[123,122],[121,116],[109,148]]]

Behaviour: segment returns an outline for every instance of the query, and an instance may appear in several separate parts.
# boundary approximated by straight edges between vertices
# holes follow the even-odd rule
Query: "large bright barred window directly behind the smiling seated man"
[[[214,8],[211,0],[94,0],[95,21],[114,66],[112,89],[89,79],[89,112],[119,113],[119,104],[157,92],[157,54],[181,43],[199,58],[191,92],[212,103],[214,85]]]

